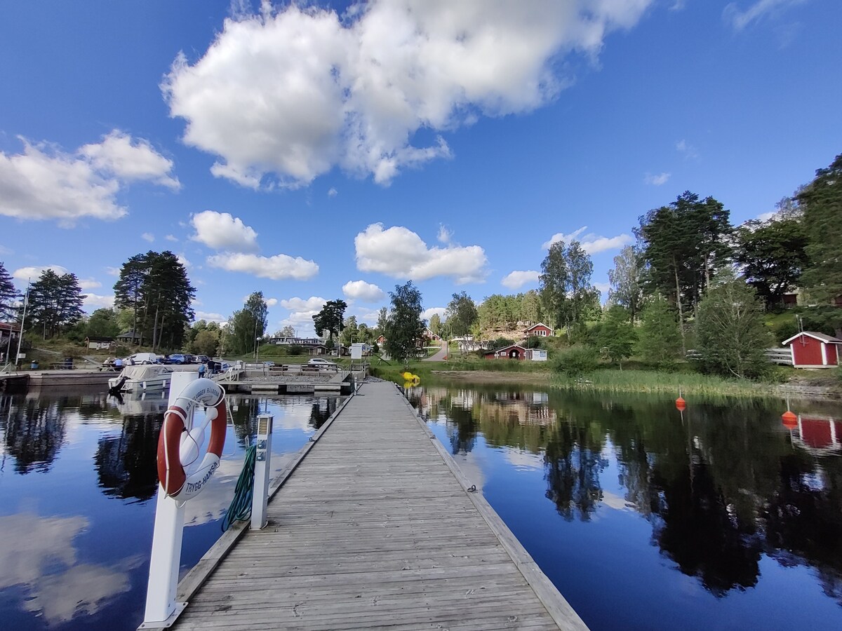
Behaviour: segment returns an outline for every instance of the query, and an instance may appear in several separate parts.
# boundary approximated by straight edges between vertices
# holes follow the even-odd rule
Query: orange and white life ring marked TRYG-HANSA
[[[197,404],[205,406],[205,422],[193,426]],[[210,423],[210,444],[198,469],[187,474],[185,466],[199,458],[205,442],[205,427]],[[199,494],[219,467],[226,432],[225,390],[210,379],[196,379],[187,384],[178,399],[163,416],[158,438],[158,480],[164,492],[175,500],[187,501]]]

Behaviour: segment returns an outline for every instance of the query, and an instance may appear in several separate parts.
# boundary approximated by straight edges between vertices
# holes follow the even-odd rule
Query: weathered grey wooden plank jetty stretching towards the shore
[[[175,628],[586,628],[394,384],[320,433]]]

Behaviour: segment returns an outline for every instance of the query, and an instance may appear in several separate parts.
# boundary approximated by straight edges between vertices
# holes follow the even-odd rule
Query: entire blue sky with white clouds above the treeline
[[[0,261],[86,308],[149,249],[198,317],[261,290],[312,335],[537,287],[554,238],[607,271],[685,190],[734,223],[842,151],[835,0],[0,0]],[[60,270],[61,271],[61,270]]]

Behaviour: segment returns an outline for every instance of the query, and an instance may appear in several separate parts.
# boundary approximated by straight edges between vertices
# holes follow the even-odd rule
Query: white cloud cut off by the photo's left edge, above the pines
[[[147,180],[179,188],[169,175],[171,161],[148,141],[135,141],[117,130],[74,153],[23,137],[20,141],[22,153],[0,151],[0,215],[57,220],[66,227],[83,217],[116,220],[128,212],[116,199],[125,184]],[[135,161],[140,166],[132,167]]]

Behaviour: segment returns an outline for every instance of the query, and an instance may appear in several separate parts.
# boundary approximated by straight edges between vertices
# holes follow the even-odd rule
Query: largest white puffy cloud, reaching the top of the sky
[[[371,0],[339,16],[290,3],[241,10],[162,83],[184,142],[249,188],[296,187],[335,166],[387,184],[450,156],[440,135],[529,112],[570,82],[571,52],[599,55],[654,0]],[[434,140],[415,146],[418,130]]]

